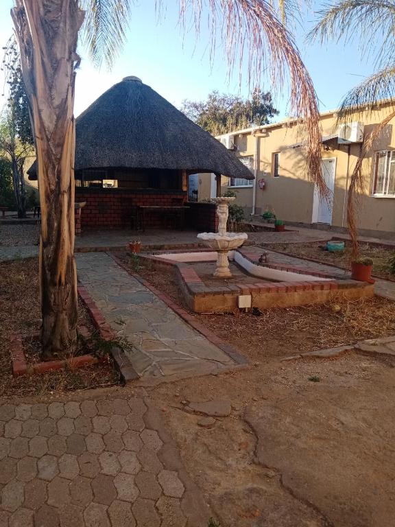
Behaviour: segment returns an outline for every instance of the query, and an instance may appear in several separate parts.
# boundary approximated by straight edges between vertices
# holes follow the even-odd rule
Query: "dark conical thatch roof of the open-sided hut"
[[[112,86],[77,117],[75,170],[104,167],[254,179],[233,152],[136,77]],[[28,173],[36,178],[36,166]]]

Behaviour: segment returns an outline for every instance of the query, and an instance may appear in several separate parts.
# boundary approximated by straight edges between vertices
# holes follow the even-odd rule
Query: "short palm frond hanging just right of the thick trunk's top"
[[[86,11],[82,43],[96,67],[102,62],[110,69],[125,42],[132,0],[80,0]]]

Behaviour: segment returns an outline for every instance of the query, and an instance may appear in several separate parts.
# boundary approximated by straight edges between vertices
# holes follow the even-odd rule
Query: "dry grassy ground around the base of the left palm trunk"
[[[40,328],[38,302],[38,260],[36,258],[0,264],[0,396],[40,395],[47,392],[84,390],[119,382],[112,361],[86,366],[76,371],[58,371],[14,379],[11,373],[9,339],[12,333],[28,337]],[[78,305],[78,325],[94,333],[84,306]],[[32,339],[29,339],[32,342]],[[86,349],[78,351],[86,353]],[[38,349],[32,345],[29,360],[36,362]]]

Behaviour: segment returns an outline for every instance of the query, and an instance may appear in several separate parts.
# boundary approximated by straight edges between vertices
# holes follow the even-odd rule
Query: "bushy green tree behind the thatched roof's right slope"
[[[259,88],[254,89],[250,99],[212,91],[206,101],[184,100],[181,110],[212,135],[263,126],[269,124],[274,115],[278,115],[271,93]]]

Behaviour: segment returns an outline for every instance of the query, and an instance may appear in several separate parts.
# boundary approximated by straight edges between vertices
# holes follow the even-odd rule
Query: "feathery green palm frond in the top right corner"
[[[395,3],[394,0],[338,0],[319,10],[318,23],[307,40],[359,39],[363,54],[374,54],[377,65],[393,62]]]

